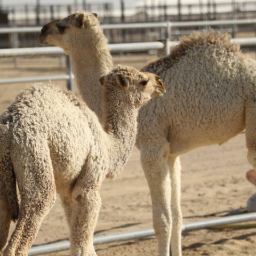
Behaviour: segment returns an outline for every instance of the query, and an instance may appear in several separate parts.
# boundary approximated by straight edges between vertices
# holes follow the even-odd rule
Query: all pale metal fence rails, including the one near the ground
[[[172,27],[195,27],[201,26],[205,27],[205,29],[209,29],[209,26],[224,26],[224,25],[234,25],[237,24],[247,24],[254,23],[256,24],[256,19],[247,19],[247,20],[220,20],[220,21],[197,21],[197,22],[159,22],[159,23],[138,23],[138,24],[118,24],[118,25],[102,25],[101,27],[104,30],[109,29],[126,29],[126,28],[152,28],[158,27],[165,29],[166,39],[160,40],[159,42],[146,42],[146,43],[125,43],[125,44],[109,44],[111,53],[120,53],[120,52],[141,52],[141,51],[149,51],[149,50],[157,50],[158,55],[167,55],[170,52],[171,45],[177,45],[178,42],[170,41],[171,38],[171,28]],[[0,34],[18,34],[18,33],[29,33],[31,31],[38,32],[41,30],[41,27],[33,27],[33,28],[2,28],[0,29]],[[253,47],[255,49],[256,46],[256,37],[252,38],[233,38],[232,41],[237,42],[242,47]],[[41,55],[63,55],[64,52],[59,47],[34,47],[34,48],[14,48],[14,49],[1,49],[0,50],[0,58],[7,57],[26,57],[26,56],[41,56]],[[20,82],[38,82],[38,81],[48,81],[51,80],[59,80],[65,79],[68,81],[67,86],[68,89],[73,90],[73,75],[71,73],[70,61],[67,57],[67,68],[65,75],[59,76],[43,76],[43,77],[23,77],[23,78],[6,78],[0,79],[0,84],[5,83],[20,83]],[[190,222],[183,225],[183,231],[191,231],[203,228],[210,227],[218,227],[219,225],[227,225],[230,223],[238,223],[244,221],[252,221],[256,220],[256,213],[247,213],[241,215],[234,215],[231,217],[222,217],[211,220],[203,220]],[[150,229],[142,229],[137,231],[130,231],[125,233],[118,233],[113,235],[105,235],[105,236],[97,236],[94,237],[94,244],[102,244],[102,243],[110,243],[117,241],[124,241],[127,239],[136,239],[147,236],[155,235],[154,230]],[[38,255],[44,253],[57,252],[61,250],[69,249],[69,242],[62,243],[53,243],[47,245],[33,246],[29,251],[29,255]]]

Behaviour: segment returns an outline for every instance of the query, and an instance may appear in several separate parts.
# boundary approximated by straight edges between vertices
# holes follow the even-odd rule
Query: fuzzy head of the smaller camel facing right
[[[100,84],[106,91],[115,90],[117,93],[122,93],[124,96],[120,99],[132,102],[137,108],[150,99],[162,97],[166,92],[163,81],[157,75],[120,65],[107,75],[102,75]]]

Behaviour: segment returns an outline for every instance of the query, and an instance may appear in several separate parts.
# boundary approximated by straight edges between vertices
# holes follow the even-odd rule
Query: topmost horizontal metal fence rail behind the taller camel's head
[[[202,26],[224,26],[224,25],[246,25],[254,24],[256,19],[239,19],[239,20],[205,20],[205,21],[184,21],[184,22],[143,22],[143,23],[118,23],[102,24],[102,29],[138,29],[138,28],[166,28],[166,27],[202,27]],[[14,33],[39,33],[41,27],[9,27],[0,28],[0,34]]]

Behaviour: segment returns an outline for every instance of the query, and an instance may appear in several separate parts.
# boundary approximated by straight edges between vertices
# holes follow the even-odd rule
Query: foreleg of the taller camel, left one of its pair
[[[176,233],[176,231],[172,231],[171,176],[173,174],[171,172],[170,175],[168,166],[168,164],[171,165],[169,143],[165,142],[159,145],[153,145],[153,143],[148,143],[147,145],[145,143],[140,146],[140,153],[142,168],[150,189],[153,207],[153,226],[156,233],[159,255],[169,256],[171,235]],[[174,204],[175,200],[172,203]],[[174,216],[174,218],[176,217]],[[175,240],[177,238],[173,241]],[[180,242],[174,246],[172,255],[181,255]]]

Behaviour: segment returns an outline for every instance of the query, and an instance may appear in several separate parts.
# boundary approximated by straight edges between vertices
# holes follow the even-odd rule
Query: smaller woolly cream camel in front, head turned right
[[[101,182],[115,178],[130,157],[139,108],[165,93],[158,76],[132,67],[117,66],[100,83],[105,127],[84,102],[52,85],[22,91],[0,117],[1,255],[27,255],[56,192],[70,226],[71,255],[96,255]],[[18,214],[13,175],[20,213],[4,249],[10,221]]]

